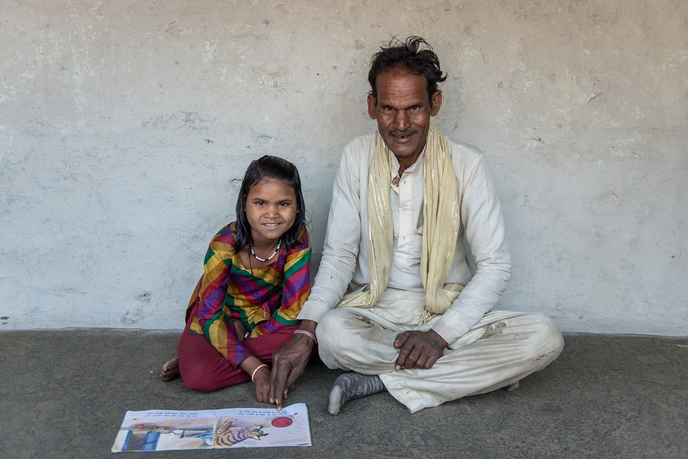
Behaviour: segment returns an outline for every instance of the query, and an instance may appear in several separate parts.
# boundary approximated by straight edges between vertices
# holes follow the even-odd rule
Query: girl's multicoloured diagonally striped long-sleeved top
[[[230,224],[231,225],[231,224]],[[310,295],[310,237],[305,226],[299,242],[282,247],[264,268],[245,268],[235,250],[235,235],[225,226],[213,237],[204,273],[186,308],[191,333],[208,341],[235,368],[251,356],[239,341],[234,320],[244,324],[249,338],[297,324],[297,315]]]

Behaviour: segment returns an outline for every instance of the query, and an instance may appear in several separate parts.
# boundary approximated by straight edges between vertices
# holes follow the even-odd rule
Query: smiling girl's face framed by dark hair
[[[253,244],[271,246],[292,227],[301,209],[297,193],[289,184],[266,178],[248,190],[244,211]]]

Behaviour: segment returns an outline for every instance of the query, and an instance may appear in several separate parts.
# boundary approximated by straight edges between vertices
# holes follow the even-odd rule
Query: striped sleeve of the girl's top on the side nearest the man
[[[310,237],[305,226],[302,226],[299,242],[289,250],[284,264],[281,305],[272,313],[270,320],[259,323],[251,330],[251,337],[298,323],[299,311],[310,295],[310,255]]]

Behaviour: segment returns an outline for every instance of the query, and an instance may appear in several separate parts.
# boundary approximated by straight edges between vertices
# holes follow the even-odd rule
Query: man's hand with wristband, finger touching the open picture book
[[[314,321],[303,321],[300,329],[315,334],[317,325]],[[272,353],[270,403],[277,403],[278,411],[282,409],[282,399],[287,398],[289,389],[303,373],[314,344],[315,341],[307,335],[294,334],[288,343]]]

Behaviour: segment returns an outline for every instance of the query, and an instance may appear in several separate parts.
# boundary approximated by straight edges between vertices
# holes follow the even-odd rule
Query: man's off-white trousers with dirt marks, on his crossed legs
[[[427,331],[438,317],[424,324]],[[417,325],[392,323],[363,308],[327,312],[316,333],[330,368],[378,374],[411,413],[513,384],[555,360],[563,348],[557,324],[537,313],[492,311],[450,343],[428,370],[395,370],[397,335]]]

